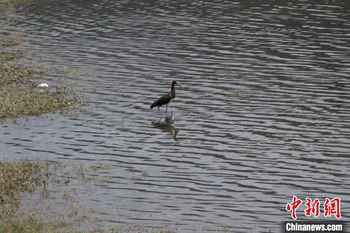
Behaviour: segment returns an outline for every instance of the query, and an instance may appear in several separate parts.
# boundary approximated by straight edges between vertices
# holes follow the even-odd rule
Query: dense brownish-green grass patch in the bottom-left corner
[[[34,215],[18,211],[23,192],[33,193],[41,183],[47,183],[45,163],[24,159],[19,162],[0,161],[0,233],[38,232],[68,225],[63,221],[43,221]]]

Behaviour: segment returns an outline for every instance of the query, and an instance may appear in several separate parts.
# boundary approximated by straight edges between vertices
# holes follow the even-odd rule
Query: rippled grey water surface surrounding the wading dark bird
[[[15,14],[25,46],[86,73],[69,81],[89,106],[3,123],[0,152],[109,161],[112,181],[82,191],[97,225],[275,232],[293,195],[340,197],[349,219],[349,1],[48,0]],[[166,125],[149,105],[172,80]]]

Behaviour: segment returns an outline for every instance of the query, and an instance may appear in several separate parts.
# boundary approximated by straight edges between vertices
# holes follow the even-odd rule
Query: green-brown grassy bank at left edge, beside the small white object
[[[15,43],[16,40],[5,42],[9,46]],[[66,91],[65,86],[37,88],[36,75],[43,71],[20,64],[17,59],[21,56],[18,51],[0,52],[0,120],[38,116],[56,110],[67,113],[70,106],[85,104],[81,96]]]

